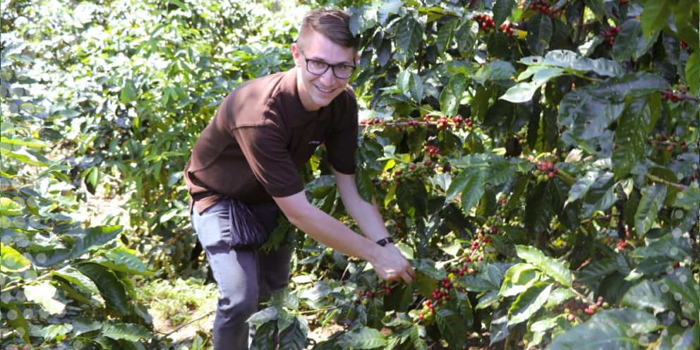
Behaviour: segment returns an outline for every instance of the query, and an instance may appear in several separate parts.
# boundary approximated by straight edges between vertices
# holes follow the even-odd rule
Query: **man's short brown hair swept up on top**
[[[350,15],[344,11],[317,8],[306,13],[296,40],[299,46],[303,46],[301,42],[308,36],[310,30],[325,35],[335,44],[351,47],[355,51],[360,44],[358,38],[350,31]]]

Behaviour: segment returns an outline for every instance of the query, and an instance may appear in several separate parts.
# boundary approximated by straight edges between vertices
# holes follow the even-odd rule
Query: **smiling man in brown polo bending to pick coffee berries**
[[[367,260],[381,279],[409,283],[415,273],[392,244],[375,204],[354,179],[358,121],[347,87],[359,56],[349,16],[318,9],[303,20],[291,47],[295,67],[245,83],[222,102],[195,143],[185,177],[193,227],[219,286],[215,349],[247,349],[246,319],[258,299],[286,286],[288,248],[231,249],[236,204],[246,203],[260,224],[274,229],[279,210],[316,241]],[[365,237],[308,203],[298,167],[325,144],[340,197]],[[267,204],[266,204],[267,203]],[[379,243],[379,244],[378,244]]]

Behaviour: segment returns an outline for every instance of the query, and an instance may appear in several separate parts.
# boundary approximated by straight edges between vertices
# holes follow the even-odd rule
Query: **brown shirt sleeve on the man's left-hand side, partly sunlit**
[[[301,176],[277,126],[243,126],[231,133],[267,193],[272,197],[286,197],[303,191]]]

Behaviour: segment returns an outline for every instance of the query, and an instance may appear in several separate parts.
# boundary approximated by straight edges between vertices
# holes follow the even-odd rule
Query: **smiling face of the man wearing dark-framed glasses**
[[[311,30],[302,40],[303,47],[293,44],[291,52],[294,55],[294,63],[297,67],[296,85],[299,90],[301,104],[307,111],[315,111],[325,107],[340,95],[347,85],[347,79],[339,79],[333,75],[333,68],[329,67],[320,76],[309,73],[306,67],[306,59],[322,61],[330,66],[345,64],[355,66],[356,52],[352,48],[344,47],[330,41],[325,35]],[[306,56],[306,59],[305,57]],[[309,62],[309,64],[312,64]]]

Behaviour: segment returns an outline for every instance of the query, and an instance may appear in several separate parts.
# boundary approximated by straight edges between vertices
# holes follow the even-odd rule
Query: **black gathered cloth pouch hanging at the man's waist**
[[[251,208],[240,200],[233,198],[226,198],[225,200],[229,200],[231,249],[253,250],[263,246],[267,242],[267,237],[271,231],[260,223],[260,219],[263,219],[263,217],[253,214]],[[274,205],[274,208],[276,209],[277,206]],[[266,215],[267,217],[264,219],[273,219],[274,224],[276,224],[278,213],[279,209],[274,212],[274,215]]]

